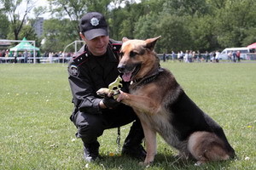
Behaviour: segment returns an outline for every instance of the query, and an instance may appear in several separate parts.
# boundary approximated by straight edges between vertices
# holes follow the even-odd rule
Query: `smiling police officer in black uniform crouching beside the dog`
[[[68,81],[73,94],[73,115],[70,117],[78,131],[77,138],[84,143],[85,161],[99,157],[97,138],[105,129],[132,123],[125,139],[122,155],[144,159],[143,128],[131,107],[113,98],[96,95],[100,88],[108,88],[118,76],[118,52],[120,42],[108,37],[108,25],[104,16],[97,12],[84,14],[80,20],[80,37],[86,42],[68,64]],[[123,91],[128,85],[123,82]]]

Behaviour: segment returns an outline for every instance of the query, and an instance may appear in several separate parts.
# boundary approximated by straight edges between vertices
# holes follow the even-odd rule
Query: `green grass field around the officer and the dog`
[[[69,121],[73,110],[67,65],[0,65],[0,169],[256,169],[256,64],[162,63],[186,93],[224,127],[238,158],[195,167],[175,158],[158,137],[151,167],[118,156],[117,129],[99,142],[102,160],[86,164],[82,143]],[[163,84],[164,86],[164,84]],[[131,125],[121,127],[121,143]],[[113,155],[113,154],[114,155]]]

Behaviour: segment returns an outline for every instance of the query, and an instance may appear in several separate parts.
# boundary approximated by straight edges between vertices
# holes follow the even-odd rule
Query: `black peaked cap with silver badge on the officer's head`
[[[108,36],[108,24],[101,13],[90,12],[84,14],[80,20],[80,31],[88,40],[99,36]]]

